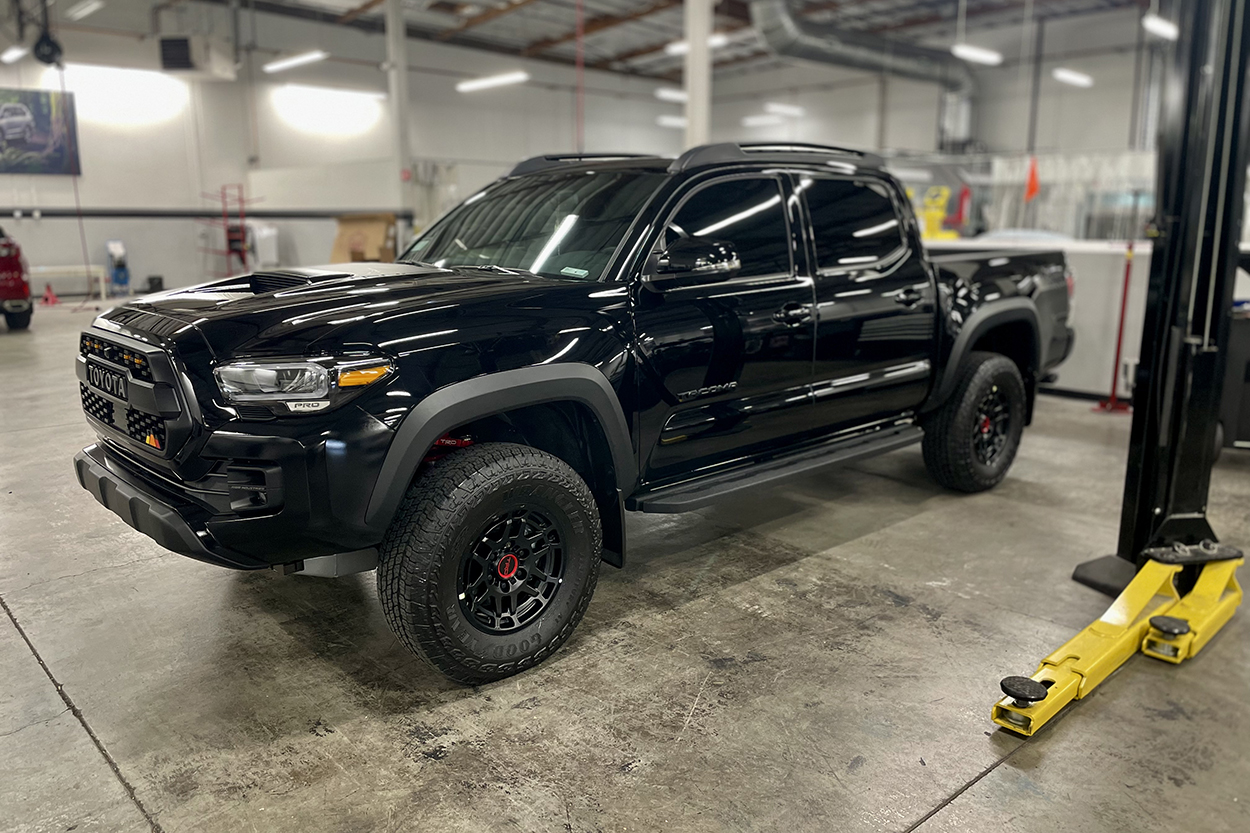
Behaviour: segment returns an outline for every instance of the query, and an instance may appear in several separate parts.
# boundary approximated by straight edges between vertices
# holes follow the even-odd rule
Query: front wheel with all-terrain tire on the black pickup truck
[[[492,538],[500,524],[521,532]],[[409,489],[379,548],[378,594],[409,650],[476,685],[525,670],[569,639],[595,593],[601,550],[599,510],[576,472],[526,445],[482,443],[432,463]],[[506,607],[492,593],[518,577],[555,589],[538,612],[529,597],[514,604],[529,605],[530,619],[482,613]],[[475,607],[476,590],[486,608]]]

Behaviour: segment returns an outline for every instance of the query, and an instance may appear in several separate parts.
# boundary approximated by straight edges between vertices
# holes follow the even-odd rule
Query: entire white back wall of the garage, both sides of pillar
[[[221,6],[185,4],[164,16],[166,31],[229,31]],[[149,16],[142,4],[110,3],[89,21],[95,31],[62,31],[70,63],[154,68],[156,41],[144,38]],[[201,209],[201,196],[225,183],[246,183],[260,209],[370,210],[399,208],[401,185],[394,176],[388,108],[359,135],[301,133],[274,106],[285,84],[384,91],[381,35],[350,28],[255,15],[258,49],[246,55],[234,83],[189,83],[189,104],[160,124],[118,126],[86,118],[80,94],[79,145],[82,175],[79,196],[86,209]],[[1108,54],[1106,44],[1132,45],[1136,14],[1115,13],[1059,21],[1048,28],[1046,74],[1039,144],[1045,149],[1119,149],[1128,144],[1134,55]],[[102,34],[111,30],[114,34]],[[245,15],[244,38],[252,18]],[[1020,54],[1020,31],[1001,29],[976,40]],[[281,75],[264,75],[259,65],[279,54],[328,50],[332,59]],[[416,160],[440,164],[435,198],[424,206],[445,205],[505,173],[525,156],[566,151],[574,146],[571,68],[506,55],[466,50],[430,41],[409,41],[410,119]],[[1096,55],[1075,58],[1082,50]],[[1092,90],[1064,88],[1049,76],[1062,63],[1091,73]],[[458,94],[460,78],[524,68],[532,81],[478,94]],[[979,73],[978,134],[998,150],[1025,143],[1028,68],[1005,66]],[[0,86],[39,88],[45,69],[26,59],[0,66]],[[55,83],[55,78],[51,79]],[[882,90],[884,83],[884,90]],[[681,131],[660,128],[656,116],[680,114],[679,105],[658,101],[660,83],[609,73],[586,76],[586,150],[676,154]],[[882,95],[884,91],[884,95]],[[719,140],[789,139],[861,148],[932,150],[936,145],[940,90],[936,84],[886,79],[820,64],[794,63],[772,70],[719,75],[714,85],[712,136]],[[776,128],[742,128],[742,116],[765,101],[798,104],[806,116]],[[418,170],[421,166],[418,165]],[[0,205],[71,208],[74,183],[66,176],[0,176]],[[74,219],[0,218],[22,244],[31,263],[81,260]],[[329,256],[332,223],[282,221],[284,256],[298,263]],[[220,248],[219,230],[191,220],[91,219],[84,223],[89,256],[104,261],[104,243],[124,240],[136,280],[161,274],[169,285],[200,280],[225,268],[201,249]]]

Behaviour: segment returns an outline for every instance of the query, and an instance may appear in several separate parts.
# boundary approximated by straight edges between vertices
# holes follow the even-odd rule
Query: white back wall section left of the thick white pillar
[[[166,14],[166,33],[229,31],[225,10],[190,4]],[[122,34],[62,31],[65,60],[126,68],[158,66],[155,39],[146,10],[136,4],[109,4],[89,21],[94,29]],[[245,16],[244,38],[250,38]],[[175,116],[145,126],[119,126],[85,118],[79,98],[78,178],[84,209],[205,209],[219,205],[201,193],[226,183],[246,183],[249,196],[268,210],[394,210],[400,208],[389,108],[359,135],[302,133],[286,124],[274,105],[285,84],[384,93],[381,35],[342,26],[256,15],[258,50],[245,56],[234,83],[189,81],[188,105]],[[125,33],[129,33],[126,35]],[[278,54],[324,49],[331,60],[281,75],[265,75],[260,64]],[[408,41],[414,161],[442,163],[446,190],[468,195],[506,173],[526,156],[574,149],[572,69],[541,61],[465,50],[428,41]],[[465,95],[461,78],[526,69],[530,84]],[[0,66],[0,86],[45,88],[55,74],[32,59]],[[652,96],[652,81],[608,73],[586,74],[586,150],[675,154],[680,134],[656,126],[669,108]],[[450,171],[450,174],[448,173]],[[0,176],[0,205],[60,208],[75,205],[69,176]],[[22,219],[0,215],[31,264],[81,264],[76,219]],[[280,220],[281,253],[290,263],[329,259],[330,220]],[[201,249],[220,249],[220,230],[185,219],[86,219],[89,258],[104,263],[109,239],[126,243],[132,280],[161,274],[166,285],[185,285],[225,270],[225,261]],[[41,288],[36,288],[40,289]]]

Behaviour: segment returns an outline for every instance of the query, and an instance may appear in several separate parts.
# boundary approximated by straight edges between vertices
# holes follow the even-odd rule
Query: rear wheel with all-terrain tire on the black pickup
[[[1011,359],[969,354],[955,390],[924,422],[925,467],[932,479],[958,492],[984,492],[1001,483],[1020,448],[1026,401],[1024,379]],[[988,453],[990,448],[996,450]]]

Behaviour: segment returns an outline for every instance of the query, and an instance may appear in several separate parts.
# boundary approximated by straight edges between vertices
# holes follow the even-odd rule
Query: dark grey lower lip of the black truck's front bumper
[[[178,509],[151,494],[139,478],[128,477],[120,467],[110,468],[99,445],[89,445],[74,455],[74,472],[79,484],[100,505],[165,549],[235,569],[270,567],[268,562],[222,547],[206,528],[194,529]]]

